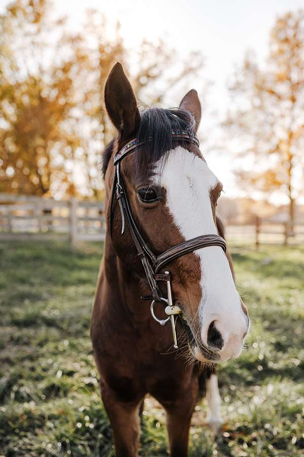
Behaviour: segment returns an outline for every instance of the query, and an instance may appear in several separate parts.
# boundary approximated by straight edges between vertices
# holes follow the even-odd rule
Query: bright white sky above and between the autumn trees
[[[108,21],[121,23],[125,43],[136,47],[143,38],[156,41],[160,37],[177,51],[177,56],[200,50],[206,58],[204,77],[213,82],[208,93],[208,109],[203,115],[204,125],[210,129],[211,111],[217,112],[217,121],[224,118],[229,108],[227,81],[245,52],[253,50],[260,62],[268,53],[269,33],[276,17],[289,10],[303,7],[303,0],[53,0],[56,13],[67,15],[70,26],[82,23],[87,8],[103,12]],[[7,0],[0,0],[0,9]],[[193,88],[201,87],[193,81]],[[189,87],[191,89],[192,87]],[[181,97],[184,94],[181,94]],[[210,115],[211,116],[211,115]],[[211,133],[212,131],[208,132]],[[206,157],[212,171],[224,183],[227,196],[239,194],[231,154],[225,151]]]

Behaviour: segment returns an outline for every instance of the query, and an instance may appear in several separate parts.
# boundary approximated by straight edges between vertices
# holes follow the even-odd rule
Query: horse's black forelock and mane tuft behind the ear
[[[146,108],[140,113],[140,125],[136,135],[139,141],[145,143],[144,147],[135,151],[135,166],[137,175],[143,177],[150,171],[150,165],[161,159],[170,149],[177,144],[183,145],[183,140],[172,138],[172,130],[185,130],[188,135],[194,135],[195,119],[192,114],[184,109],[159,107]],[[152,140],[150,140],[152,138]],[[113,144],[111,140],[103,151],[102,172],[106,172],[108,162],[112,155]]]

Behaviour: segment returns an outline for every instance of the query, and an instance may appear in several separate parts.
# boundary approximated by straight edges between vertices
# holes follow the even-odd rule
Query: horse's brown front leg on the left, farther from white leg
[[[101,389],[104,407],[110,418],[117,457],[136,457],[139,447],[141,399],[134,402],[118,401],[108,388]]]

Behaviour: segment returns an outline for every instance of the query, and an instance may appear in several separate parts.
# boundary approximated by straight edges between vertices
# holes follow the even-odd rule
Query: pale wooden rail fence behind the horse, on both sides
[[[0,194],[0,240],[68,238],[101,241],[105,236],[103,202],[54,200],[42,197]],[[256,219],[251,225],[227,225],[226,238],[240,244],[304,243],[304,224],[293,233],[286,223]]]

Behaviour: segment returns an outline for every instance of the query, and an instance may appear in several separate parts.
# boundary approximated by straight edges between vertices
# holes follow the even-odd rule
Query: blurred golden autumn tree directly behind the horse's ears
[[[87,12],[83,36],[83,52],[89,59],[79,123],[82,149],[86,156],[82,169],[87,176],[88,192],[100,198],[101,150],[115,134],[103,100],[104,85],[112,66],[117,61],[122,63],[142,107],[146,104],[172,104],[172,100],[178,105],[182,94],[189,90],[189,86],[192,87],[193,80],[202,71],[204,59],[199,52],[189,52],[181,59],[174,49],[161,40],[156,43],[143,40],[136,49],[128,49],[120,34],[120,24],[116,25],[115,38],[108,39],[107,21],[96,10]],[[203,87],[204,80],[201,81],[200,89]]]

